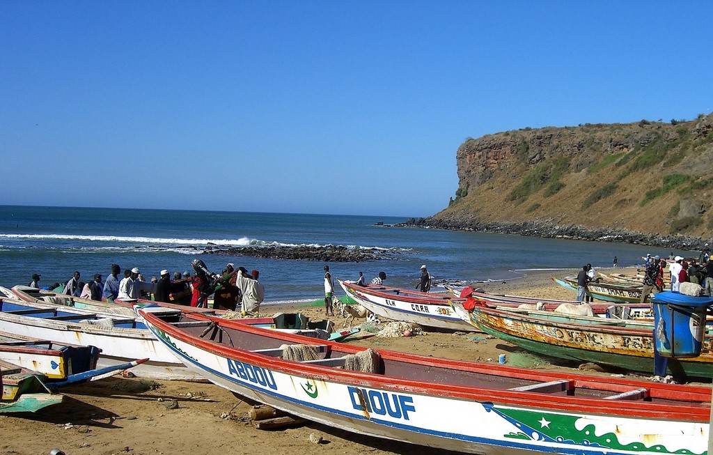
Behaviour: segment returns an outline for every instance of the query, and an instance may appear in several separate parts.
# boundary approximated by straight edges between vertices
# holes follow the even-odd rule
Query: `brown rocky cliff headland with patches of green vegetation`
[[[468,138],[458,190],[421,225],[713,245],[713,114],[694,121],[523,128]]]

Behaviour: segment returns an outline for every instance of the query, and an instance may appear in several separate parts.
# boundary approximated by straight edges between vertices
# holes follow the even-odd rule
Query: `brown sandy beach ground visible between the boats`
[[[602,272],[605,270],[602,270]],[[634,270],[617,269],[617,272]],[[556,275],[575,272],[558,270]],[[574,292],[550,280],[550,272],[530,273],[509,282],[480,283],[489,292],[506,292],[540,298],[574,299]],[[342,295],[342,292],[339,292]],[[264,305],[263,315],[302,312],[323,319],[324,308],[305,305]],[[338,327],[341,318],[332,318]],[[359,324],[359,321],[356,322]],[[508,364],[536,369],[581,372],[578,364],[558,362],[523,352],[485,334],[426,332],[416,337],[371,337],[355,344],[414,352],[427,356],[498,362],[506,354]],[[584,371],[588,374],[620,372]],[[645,376],[631,375],[639,379]],[[0,416],[0,454],[217,454],[217,453],[329,453],[406,454],[423,450],[394,441],[374,439],[307,422],[287,429],[253,428],[240,397],[213,384],[160,382],[111,377],[65,389],[63,404],[36,414]],[[322,436],[320,444],[310,434]],[[430,454],[448,451],[429,450]]]

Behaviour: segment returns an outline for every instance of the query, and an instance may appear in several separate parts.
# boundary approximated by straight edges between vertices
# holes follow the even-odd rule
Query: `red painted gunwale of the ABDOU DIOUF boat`
[[[571,397],[571,396],[556,396],[549,394],[538,394],[537,392],[520,392],[508,389],[493,389],[486,387],[463,386],[458,384],[440,384],[437,382],[416,383],[413,380],[401,379],[399,377],[389,377],[381,374],[353,372],[345,369],[334,369],[333,367],[325,367],[313,364],[301,364],[289,360],[269,357],[264,354],[250,352],[248,349],[230,347],[225,344],[209,342],[205,339],[197,337],[185,330],[173,326],[168,322],[164,322],[155,315],[145,314],[145,319],[148,324],[156,329],[173,336],[181,341],[191,344],[198,349],[205,350],[210,354],[218,357],[245,359],[248,362],[255,362],[257,366],[266,367],[267,369],[277,370],[284,374],[294,374],[300,377],[316,377],[319,379],[327,379],[332,382],[342,382],[348,384],[359,384],[366,387],[374,387],[381,389],[389,389],[396,392],[411,392],[414,394],[436,395],[453,399],[465,399],[477,402],[493,402],[505,406],[519,407],[538,407],[542,404],[550,411],[568,411],[586,414],[617,414],[627,417],[645,417],[653,419],[675,419],[683,421],[709,421],[710,407],[706,406],[709,403],[711,390],[704,387],[689,386],[689,385],[672,385],[672,384],[642,384],[642,382],[632,381],[629,379],[612,379],[607,378],[607,383],[610,387],[617,387],[620,390],[612,390],[612,392],[621,392],[625,389],[646,387],[650,390],[657,391],[657,397],[662,399],[672,399],[677,390],[686,389],[687,401],[690,403],[652,403],[652,402],[636,402],[637,407],[632,407],[632,402],[619,402],[617,400],[604,400],[589,397]],[[339,352],[359,352],[366,348],[352,347],[349,345],[329,342],[327,340],[315,340],[307,337],[301,337],[294,334],[279,334],[272,333],[269,329],[261,329],[251,327],[246,324],[232,322],[226,319],[210,317],[207,315],[190,315],[195,319],[207,319],[216,322],[217,325],[226,325],[233,329],[239,329],[244,332],[252,332],[263,337],[280,339],[288,342],[299,344],[327,344],[329,349],[338,347]],[[215,320],[217,319],[217,320]],[[420,365],[428,365],[431,367],[441,367],[444,369],[466,369],[468,372],[483,372],[493,374],[492,364],[478,364],[476,362],[466,362],[451,359],[435,359],[433,357],[423,357],[417,354],[404,354],[400,352],[378,351],[382,358],[393,359],[400,362],[408,362]],[[200,368],[200,362],[198,367]],[[515,367],[497,366],[495,369],[503,372],[503,375],[515,377],[515,374],[523,374],[523,369]],[[548,372],[546,374],[532,374],[533,377],[523,377],[521,379],[529,379],[535,382],[543,382],[542,379],[567,379],[574,380],[575,387],[585,387],[586,385],[602,384],[602,381],[597,381],[596,377],[577,376],[572,379],[572,374]],[[588,387],[601,389],[601,387]],[[608,390],[608,389],[607,389]],[[497,399],[493,399],[493,392],[497,392]],[[661,392],[660,396],[658,393]],[[699,397],[699,399],[693,399]]]

